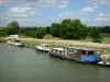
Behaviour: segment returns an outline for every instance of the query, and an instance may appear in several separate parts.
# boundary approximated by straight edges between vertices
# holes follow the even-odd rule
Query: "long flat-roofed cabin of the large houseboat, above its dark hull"
[[[55,55],[62,55],[65,57],[70,57],[74,59],[92,59],[92,57],[98,56],[99,49],[94,48],[84,48],[84,47],[64,47],[64,48],[54,48],[52,52]],[[95,58],[94,58],[95,59]]]

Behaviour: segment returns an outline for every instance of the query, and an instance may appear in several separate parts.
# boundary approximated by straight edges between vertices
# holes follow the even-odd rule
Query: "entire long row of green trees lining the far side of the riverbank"
[[[94,39],[101,38],[99,28],[87,27],[79,20],[70,19],[63,20],[61,23],[52,23],[47,27],[33,28],[20,28],[18,22],[11,22],[7,28],[0,30],[0,36],[11,34],[24,34],[35,38],[43,38],[46,34],[65,39],[85,39],[88,36]]]

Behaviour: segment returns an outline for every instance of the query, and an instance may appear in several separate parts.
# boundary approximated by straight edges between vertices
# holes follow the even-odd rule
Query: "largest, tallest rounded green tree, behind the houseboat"
[[[66,39],[80,39],[87,36],[87,27],[79,20],[64,20],[61,31],[62,37]]]

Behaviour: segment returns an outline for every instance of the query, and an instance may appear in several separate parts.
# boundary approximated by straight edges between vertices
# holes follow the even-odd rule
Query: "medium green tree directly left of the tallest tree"
[[[61,24],[59,23],[52,23],[51,34],[54,37],[61,37]]]

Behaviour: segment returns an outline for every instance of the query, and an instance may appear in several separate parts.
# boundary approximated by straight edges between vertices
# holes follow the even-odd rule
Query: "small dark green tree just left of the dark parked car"
[[[92,39],[100,39],[100,38],[101,38],[101,35],[100,35],[99,28],[97,28],[97,27],[91,27],[91,28],[90,28],[90,32],[89,32],[89,36],[90,36]]]

